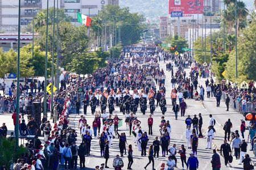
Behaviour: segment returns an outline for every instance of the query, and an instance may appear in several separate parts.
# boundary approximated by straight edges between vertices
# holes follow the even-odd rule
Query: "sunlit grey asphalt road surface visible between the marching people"
[[[160,69],[165,70],[166,65],[163,63],[163,61],[160,62]],[[176,68],[175,68],[176,69]],[[187,75],[189,72],[189,69],[185,69]],[[229,112],[226,112],[225,108],[225,103],[221,101],[220,107],[216,107],[216,100],[214,97],[210,97],[210,99],[207,99],[206,94],[205,94],[205,101],[201,103],[201,101],[195,101],[194,99],[187,99],[185,102],[188,105],[188,109],[185,112],[185,117],[180,117],[180,113],[178,114],[177,120],[175,120],[174,112],[172,112],[172,106],[171,106],[171,73],[165,71],[166,74],[166,100],[167,100],[167,112],[164,115],[166,120],[170,121],[170,124],[172,126],[172,132],[171,132],[171,143],[170,147],[176,143],[177,149],[180,148],[180,145],[184,144],[185,148],[186,147],[186,139],[185,139],[185,130],[186,130],[186,125],[185,125],[185,118],[190,114],[193,116],[194,114],[202,114],[203,117],[203,129],[206,131],[208,124],[209,124],[209,114],[212,114],[214,119],[216,120],[216,126],[214,128],[216,129],[216,134],[214,135],[215,138],[213,139],[213,143],[216,145],[216,147],[220,147],[221,144],[223,143],[224,140],[224,130],[222,130],[222,126],[224,125],[225,121],[228,120],[228,118],[231,119],[233,123],[233,128],[232,131],[239,130],[240,129],[240,118],[242,118],[242,114],[234,111],[232,108],[230,108]],[[203,84],[205,87],[205,81],[206,79],[200,79],[199,83]],[[86,120],[88,121],[88,124],[91,125],[94,116],[90,115],[90,107],[88,108],[89,115],[86,115]],[[81,114],[82,114],[82,109],[81,109]],[[119,118],[123,119],[123,126],[119,128],[119,132],[125,132],[127,136],[127,143],[133,145],[133,155],[134,155],[134,163],[131,166],[133,169],[144,169],[143,167],[147,164],[148,158],[147,157],[142,157],[141,152],[138,151],[137,146],[133,142],[133,137],[129,136],[129,131],[126,130],[126,125],[125,125],[125,117],[123,116],[122,113],[119,112],[119,108],[115,108],[115,111],[113,114],[117,114]],[[142,130],[148,131],[147,127],[147,118],[149,116],[149,109],[146,111],[146,115],[142,115],[141,112],[137,112],[136,116],[138,119],[142,122]],[[153,135],[149,136],[149,141],[148,141],[148,146],[152,144],[154,141],[155,137],[160,135],[159,133],[159,124],[160,124],[160,117],[162,116],[162,112],[160,111],[160,107],[156,108],[156,111],[154,115],[152,116],[154,118],[154,125],[153,125]],[[7,127],[9,130],[14,130],[13,126],[13,120],[11,120],[11,114],[0,114],[0,125],[3,122],[6,122]],[[77,129],[77,132],[79,132],[78,128],[78,120],[80,118],[79,114],[71,114],[70,120],[72,122],[72,126],[75,126]],[[246,122],[247,124],[247,122]],[[246,131],[245,137],[247,137],[248,132]],[[81,142],[81,138],[78,137],[78,142]],[[250,144],[249,144],[250,146]],[[249,147],[248,146],[248,150]],[[212,150],[205,149],[207,147],[207,139],[206,138],[199,138],[199,147],[198,147],[198,153],[197,153],[197,158],[199,159],[199,169],[212,169],[211,164],[210,164],[210,158],[212,156]],[[148,147],[147,147],[148,148]],[[94,169],[96,165],[100,165],[101,163],[105,163],[105,159],[100,157],[100,146],[98,145],[98,139],[93,138],[92,140],[92,148],[91,148],[91,153],[89,157],[86,157],[86,169]],[[191,151],[191,149],[187,149],[187,158],[188,158],[188,153]],[[252,151],[248,152],[251,157],[253,156]],[[115,158],[115,155],[119,154],[119,147],[118,147],[118,139],[115,138],[113,139],[113,145],[110,147],[110,159],[108,162],[108,166],[110,167],[109,169],[114,169],[112,164],[113,164],[113,159]],[[162,152],[160,149],[160,154],[159,154],[159,159],[155,159],[155,168],[160,169],[160,166],[162,163],[167,162],[167,156],[165,158],[161,157]],[[177,161],[177,167],[175,169],[182,169],[179,154],[176,155],[176,158],[178,159]],[[124,155],[123,157],[123,162],[125,166],[123,169],[127,169],[127,155]],[[151,169],[152,164],[148,166],[147,169]],[[61,168],[60,168],[61,169]],[[229,165],[229,167],[225,167],[224,164],[224,158],[221,158],[221,169],[242,169],[242,165],[238,165],[238,160],[235,158],[233,159],[233,163]]]

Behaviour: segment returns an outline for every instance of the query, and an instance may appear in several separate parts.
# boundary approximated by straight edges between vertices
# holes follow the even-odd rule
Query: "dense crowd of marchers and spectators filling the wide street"
[[[160,69],[160,56],[164,57],[166,70]],[[195,114],[193,118],[185,114],[187,110],[185,100],[204,100],[205,90],[202,85],[199,86],[198,80],[200,76],[209,77],[208,68],[205,69],[195,64],[187,54],[175,56],[158,51],[155,47],[127,46],[123,49],[121,57],[121,59],[109,60],[107,67],[98,69],[87,77],[63,80],[60,91],[53,97],[53,106],[50,104],[51,97],[48,96],[47,98],[47,106],[52,111],[52,122],[47,119],[47,116],[43,117],[41,124],[36,122],[34,117],[30,117],[26,122],[23,115],[20,116],[20,122],[16,122],[16,113],[13,113],[14,125],[20,124],[20,135],[24,137],[35,135],[34,140],[24,144],[28,153],[16,161],[14,169],[58,169],[60,166],[65,169],[76,169],[77,164],[80,165],[80,168],[85,168],[85,158],[91,156],[92,141],[98,141],[100,152],[97,156],[105,159],[105,163],[96,166],[96,169],[109,168],[110,150],[114,141],[118,141],[119,148],[119,154],[113,160],[113,167],[116,170],[125,167],[124,155],[127,155],[129,162],[125,169],[132,169],[135,148],[141,152],[141,156],[148,156],[148,163],[144,169],[151,163],[152,169],[155,169],[154,160],[159,159],[160,150],[162,152],[160,156],[163,158],[168,156],[166,164],[163,164],[161,169],[165,167],[168,167],[168,170],[177,168],[177,154],[180,155],[182,168],[191,170],[199,168],[197,148],[199,138],[204,137],[202,132],[203,118],[201,113],[198,116]],[[191,71],[186,73],[185,68],[188,66],[191,66]],[[171,94],[166,94],[167,72],[171,72]],[[210,95],[216,97],[217,107],[220,106],[222,91],[237,95],[236,89],[222,84],[216,85],[212,78],[207,79],[205,87],[207,97]],[[77,92],[78,88],[82,88],[83,94]],[[251,95],[239,92],[240,95],[241,93],[246,96],[246,99],[248,96],[248,100],[255,100],[254,98],[249,99]],[[248,93],[253,94],[253,91]],[[166,112],[171,112],[167,111],[166,95],[171,96],[171,111],[175,113],[175,119],[177,120],[179,112],[181,117],[187,116],[185,118],[187,145],[181,145],[180,148],[177,148],[175,143],[171,145],[170,142],[172,126],[170,120],[166,120],[164,117]],[[32,90],[28,93],[28,97],[20,98],[20,110],[26,111],[34,101],[42,103],[43,97],[40,93],[33,93]],[[90,111],[88,111],[88,107]],[[149,136],[152,135],[152,125],[155,124],[152,115],[158,107],[162,113],[159,122],[159,138],[155,137],[155,140],[151,141]],[[81,108],[83,112],[80,114]],[[138,114],[146,114],[147,110],[150,111],[147,120],[148,132],[137,117]],[[120,133],[118,130],[121,118],[117,114],[113,115],[116,112],[125,116],[127,133],[123,131]],[[75,127],[70,124],[69,114],[71,113],[77,113],[81,116],[77,122],[79,130],[75,130]],[[93,115],[92,122],[86,120],[88,114]],[[243,126],[243,122],[241,121],[241,126]],[[205,132],[207,149],[212,149],[214,133],[216,132],[215,124],[216,121],[210,114],[208,130]],[[7,134],[5,127],[3,125],[0,128],[4,137]],[[247,144],[245,140],[240,139],[238,131],[230,136],[230,129],[232,128],[230,120],[225,123],[224,128],[225,139],[220,152],[221,155],[224,155],[225,165],[227,166],[230,162],[231,148],[233,147],[234,155],[240,159],[240,163],[243,163],[246,169],[250,165],[250,158],[246,154]],[[43,133],[41,140],[38,137],[40,130]],[[250,132],[253,141],[252,147],[256,143],[255,132],[252,130]],[[128,135],[133,137],[132,145],[127,143]],[[243,129],[241,135],[243,136]],[[233,142],[232,147],[227,141]],[[254,149],[256,150],[256,147]],[[188,153],[189,157],[187,158]],[[220,156],[216,150],[213,150],[211,163],[213,168],[220,169]]]

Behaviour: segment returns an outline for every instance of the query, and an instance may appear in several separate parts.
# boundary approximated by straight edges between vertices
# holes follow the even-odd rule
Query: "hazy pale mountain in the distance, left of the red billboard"
[[[241,1],[245,2],[248,10],[254,9],[253,0]],[[143,14],[151,23],[158,23],[160,16],[168,15],[168,0],[119,0],[119,5],[129,7],[131,12]]]

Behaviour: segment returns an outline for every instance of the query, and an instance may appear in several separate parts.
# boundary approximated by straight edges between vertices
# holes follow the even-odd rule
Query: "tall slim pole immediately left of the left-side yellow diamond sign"
[[[19,0],[20,1],[20,0]],[[47,0],[47,13],[46,13],[46,62],[44,63],[44,115],[47,117],[47,62],[48,62],[48,12],[49,12],[49,0]]]

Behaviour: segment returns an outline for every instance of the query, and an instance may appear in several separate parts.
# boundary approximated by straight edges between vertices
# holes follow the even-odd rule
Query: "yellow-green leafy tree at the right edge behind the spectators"
[[[233,50],[230,53],[226,64],[226,79],[233,82],[242,82],[243,80],[256,80],[256,22],[249,24],[249,27],[243,29],[238,37],[237,61],[238,61],[238,79],[236,79],[236,55]]]

